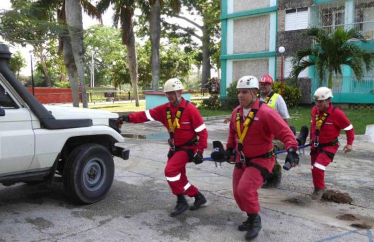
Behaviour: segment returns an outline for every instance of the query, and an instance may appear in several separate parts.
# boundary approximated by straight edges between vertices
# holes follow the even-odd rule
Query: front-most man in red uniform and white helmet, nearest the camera
[[[291,166],[299,163],[299,155],[296,153],[297,141],[289,126],[274,109],[257,98],[257,78],[240,78],[236,89],[240,105],[231,115],[226,153],[229,161],[236,162],[232,179],[235,201],[248,216],[238,230],[247,231],[245,239],[249,241],[256,238],[261,230],[257,190],[275,163],[274,136],[285,144],[288,152],[286,162],[290,162]]]

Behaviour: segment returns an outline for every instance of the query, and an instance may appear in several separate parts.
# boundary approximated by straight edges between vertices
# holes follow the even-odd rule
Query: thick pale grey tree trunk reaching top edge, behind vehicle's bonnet
[[[86,81],[84,78],[84,45],[83,45],[83,22],[82,7],[80,0],[65,0],[66,22],[71,38],[71,49],[77,68],[78,79],[82,91],[83,107],[88,107],[86,92]]]

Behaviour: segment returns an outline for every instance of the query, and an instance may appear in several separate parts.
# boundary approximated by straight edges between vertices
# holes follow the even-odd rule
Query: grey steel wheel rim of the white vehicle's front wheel
[[[89,191],[98,190],[105,181],[106,167],[103,160],[93,158],[83,169],[83,184]]]

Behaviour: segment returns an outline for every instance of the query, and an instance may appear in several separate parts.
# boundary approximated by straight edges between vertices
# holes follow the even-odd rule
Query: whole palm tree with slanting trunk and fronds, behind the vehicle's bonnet
[[[122,44],[127,48],[127,63],[130,71],[130,80],[135,94],[135,105],[139,107],[138,95],[138,61],[135,47],[135,34],[133,29],[133,15],[135,9],[135,0],[100,0],[97,8],[104,12],[110,4],[114,6],[113,25],[121,24]]]

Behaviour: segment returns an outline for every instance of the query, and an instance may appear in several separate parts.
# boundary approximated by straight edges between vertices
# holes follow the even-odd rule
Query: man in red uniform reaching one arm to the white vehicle
[[[190,210],[197,210],[206,203],[205,197],[187,179],[186,164],[202,162],[202,153],[207,148],[208,132],[198,109],[182,97],[183,83],[178,79],[165,82],[164,92],[169,102],[147,111],[124,115],[119,122],[144,123],[159,121],[168,129],[169,154],[165,167],[165,176],[177,205],[171,216],[177,216]],[[192,206],[188,206],[185,195],[194,197]]]

